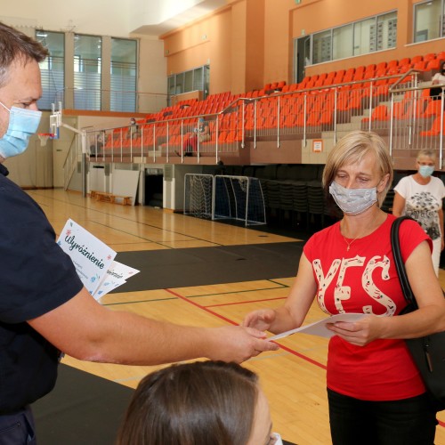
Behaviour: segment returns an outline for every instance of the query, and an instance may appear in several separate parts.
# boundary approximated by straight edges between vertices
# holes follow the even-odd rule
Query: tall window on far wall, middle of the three
[[[74,36],[74,107],[101,109],[101,37]]]

